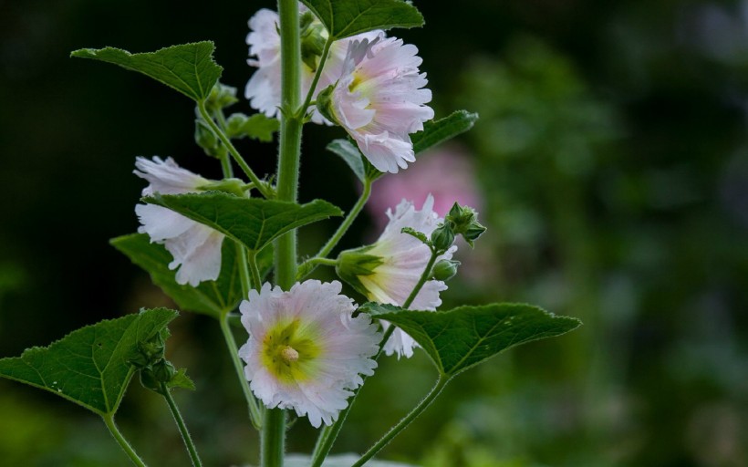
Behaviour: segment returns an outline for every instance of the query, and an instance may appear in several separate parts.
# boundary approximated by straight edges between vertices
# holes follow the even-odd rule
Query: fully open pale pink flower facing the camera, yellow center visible
[[[239,306],[249,340],[239,349],[255,396],[273,409],[294,409],[314,427],[330,425],[348,406],[350,389],[372,375],[381,335],[341,296],[338,281],[296,283],[284,292],[265,283]]]

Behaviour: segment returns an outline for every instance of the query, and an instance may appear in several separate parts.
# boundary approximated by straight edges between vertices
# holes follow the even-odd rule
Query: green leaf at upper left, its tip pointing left
[[[81,48],[70,57],[93,58],[138,71],[195,101],[207,99],[223,67],[213,61],[213,42],[203,41],[130,54],[120,48]]]

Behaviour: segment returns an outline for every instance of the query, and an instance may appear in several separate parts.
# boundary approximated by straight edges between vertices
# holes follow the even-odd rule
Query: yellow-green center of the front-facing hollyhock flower
[[[263,339],[263,365],[286,384],[313,378],[321,353],[316,337],[315,329],[301,328],[297,320],[278,323]]]

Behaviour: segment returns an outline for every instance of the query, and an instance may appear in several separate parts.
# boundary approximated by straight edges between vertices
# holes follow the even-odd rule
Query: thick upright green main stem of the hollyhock
[[[301,39],[297,0],[278,0],[281,41],[281,125],[278,149],[277,199],[296,202],[301,159]],[[296,281],[296,230],[275,243],[275,284],[288,290]],[[286,413],[265,410],[260,445],[262,467],[282,467]]]

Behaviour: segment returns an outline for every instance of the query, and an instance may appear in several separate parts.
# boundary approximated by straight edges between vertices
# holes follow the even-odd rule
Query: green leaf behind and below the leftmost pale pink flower
[[[232,242],[223,242],[218,280],[203,281],[197,287],[177,283],[176,271],[169,269],[171,253],[162,244],[152,244],[148,234],[122,235],[109,243],[151,275],[153,284],[161,287],[182,310],[221,317],[234,310],[243,298],[236,248]],[[273,267],[272,248],[257,254],[257,263],[261,274],[266,275]]]

